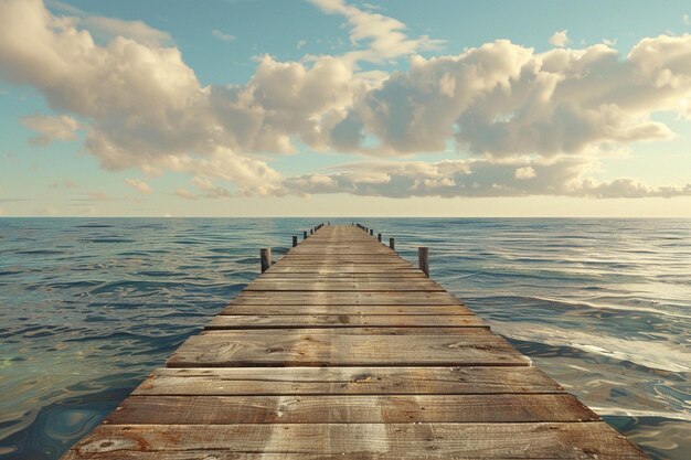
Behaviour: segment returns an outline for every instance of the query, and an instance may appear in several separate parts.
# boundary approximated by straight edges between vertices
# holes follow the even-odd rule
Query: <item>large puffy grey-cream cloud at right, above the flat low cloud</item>
[[[673,137],[658,111],[689,115],[691,35],[645,39],[621,60],[604,44],[535,53],[506,40],[412,60],[357,100],[331,145],[371,154],[581,154]],[[684,111],[685,110],[685,111]],[[373,140],[375,142],[373,142]]]

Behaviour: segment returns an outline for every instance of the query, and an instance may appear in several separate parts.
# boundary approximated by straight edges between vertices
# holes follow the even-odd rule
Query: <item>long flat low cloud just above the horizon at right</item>
[[[496,197],[556,195],[580,197],[689,196],[685,186],[649,186],[634,179],[595,182],[584,175],[593,168],[583,158],[550,160],[376,161],[338,167],[336,172],[288,178],[294,194],[350,193],[406,199],[412,196]],[[373,180],[374,179],[374,180]]]

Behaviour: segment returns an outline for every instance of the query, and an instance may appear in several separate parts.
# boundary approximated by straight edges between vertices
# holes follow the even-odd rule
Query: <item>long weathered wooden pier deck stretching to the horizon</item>
[[[371,234],[313,232],[63,458],[647,458]]]

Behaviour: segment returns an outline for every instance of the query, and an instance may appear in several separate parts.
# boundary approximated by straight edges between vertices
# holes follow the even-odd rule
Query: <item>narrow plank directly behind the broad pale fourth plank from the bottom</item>
[[[206,324],[219,329],[296,328],[489,328],[475,315],[382,315],[382,314],[221,314]]]

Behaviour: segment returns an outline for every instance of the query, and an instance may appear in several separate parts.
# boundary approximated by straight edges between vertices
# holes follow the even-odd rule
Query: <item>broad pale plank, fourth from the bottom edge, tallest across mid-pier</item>
[[[188,339],[168,360],[169,367],[230,366],[405,366],[530,365],[503,339],[479,328],[446,334],[385,334],[383,328],[205,332]],[[419,329],[418,329],[419,330]],[[344,333],[358,331],[359,334]],[[404,331],[404,332],[403,332]],[[426,331],[426,330],[425,330]],[[440,331],[437,329],[436,331]],[[398,332],[398,331],[396,331]],[[471,333],[472,332],[472,333]]]

